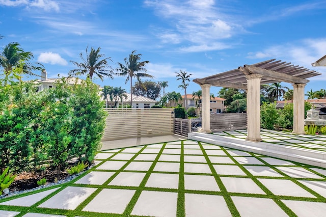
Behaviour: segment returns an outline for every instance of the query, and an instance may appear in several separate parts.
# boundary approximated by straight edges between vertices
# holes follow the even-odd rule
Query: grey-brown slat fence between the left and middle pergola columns
[[[213,132],[247,128],[247,113],[222,113],[210,115],[210,129]]]

